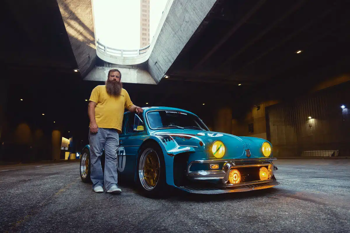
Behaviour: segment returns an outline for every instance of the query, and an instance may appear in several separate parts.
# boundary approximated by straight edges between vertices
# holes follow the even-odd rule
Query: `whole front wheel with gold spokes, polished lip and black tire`
[[[157,163],[159,164],[158,169],[154,169]],[[164,155],[160,146],[155,142],[148,142],[141,146],[137,160],[137,187],[146,196],[159,196],[165,191]]]

